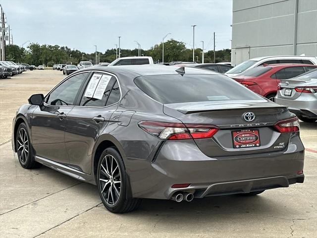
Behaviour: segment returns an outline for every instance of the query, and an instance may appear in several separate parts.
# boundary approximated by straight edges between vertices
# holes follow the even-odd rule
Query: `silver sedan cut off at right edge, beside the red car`
[[[317,120],[317,69],[290,79],[282,79],[278,85],[275,102],[305,122]]]

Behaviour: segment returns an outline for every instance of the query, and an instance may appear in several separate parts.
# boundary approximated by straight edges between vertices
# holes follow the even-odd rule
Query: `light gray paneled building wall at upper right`
[[[232,65],[262,56],[317,56],[317,0],[233,0],[232,12]]]

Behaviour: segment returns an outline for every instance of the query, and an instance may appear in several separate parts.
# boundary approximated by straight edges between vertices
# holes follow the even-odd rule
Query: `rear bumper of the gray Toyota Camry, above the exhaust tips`
[[[286,151],[211,158],[194,141],[166,141],[154,162],[124,158],[132,196],[170,199],[178,191],[195,198],[243,193],[304,181],[304,146],[295,135]],[[134,168],[134,169],[133,169]],[[173,184],[189,183],[186,188]]]

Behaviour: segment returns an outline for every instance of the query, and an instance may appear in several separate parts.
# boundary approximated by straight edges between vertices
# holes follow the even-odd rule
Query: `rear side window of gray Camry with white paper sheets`
[[[112,75],[94,73],[86,86],[84,94],[82,95],[80,106],[105,107],[106,105],[110,105],[107,101],[111,94],[113,85],[117,83],[116,81],[116,78]],[[113,99],[113,97],[111,97],[111,101],[113,100],[115,100],[115,98]]]

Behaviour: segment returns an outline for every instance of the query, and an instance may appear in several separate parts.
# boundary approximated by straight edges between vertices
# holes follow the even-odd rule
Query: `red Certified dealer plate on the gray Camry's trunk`
[[[258,147],[261,145],[258,129],[232,131],[233,148]]]

